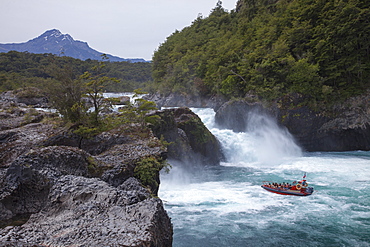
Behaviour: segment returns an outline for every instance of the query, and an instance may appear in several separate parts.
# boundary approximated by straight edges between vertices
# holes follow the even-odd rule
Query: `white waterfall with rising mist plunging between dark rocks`
[[[293,136],[285,128],[278,126],[276,120],[270,116],[252,111],[247,116],[248,126],[245,132],[234,132],[217,127],[213,109],[192,110],[220,141],[227,160],[225,165],[270,166],[302,155]]]

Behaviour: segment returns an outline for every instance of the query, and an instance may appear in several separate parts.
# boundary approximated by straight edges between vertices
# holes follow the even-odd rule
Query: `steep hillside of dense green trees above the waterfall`
[[[153,78],[162,93],[360,94],[370,87],[370,1],[239,0],[230,13],[218,2],[160,45]]]

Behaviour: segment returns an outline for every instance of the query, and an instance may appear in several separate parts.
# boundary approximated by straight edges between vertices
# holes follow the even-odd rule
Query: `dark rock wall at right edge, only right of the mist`
[[[285,104],[299,100],[292,97]],[[325,111],[283,107],[280,121],[307,151],[370,150],[370,92]]]

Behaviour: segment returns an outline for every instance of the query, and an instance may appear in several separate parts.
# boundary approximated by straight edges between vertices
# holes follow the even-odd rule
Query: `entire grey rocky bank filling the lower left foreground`
[[[159,183],[135,176],[141,159],[166,158],[151,131],[81,140],[52,113],[0,101],[0,246],[172,245]]]

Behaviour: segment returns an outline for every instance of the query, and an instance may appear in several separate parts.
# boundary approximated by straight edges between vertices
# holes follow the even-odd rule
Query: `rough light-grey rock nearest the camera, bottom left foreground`
[[[132,183],[131,187],[139,186]],[[132,188],[131,188],[132,189]],[[139,189],[140,190],[140,189]],[[162,202],[96,178],[62,176],[45,208],[19,227],[5,228],[1,242],[43,246],[172,246],[172,227]]]

